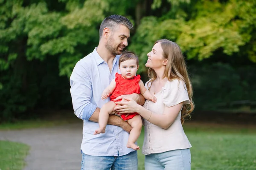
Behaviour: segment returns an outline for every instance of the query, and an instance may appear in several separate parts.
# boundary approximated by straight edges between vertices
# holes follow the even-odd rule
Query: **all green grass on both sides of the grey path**
[[[66,122],[24,121],[0,125],[0,130],[49,127]],[[187,121],[184,130],[192,144],[192,170],[256,170],[255,125],[218,125]],[[143,138],[144,131],[138,139],[140,148]],[[24,166],[23,160],[28,150],[29,147],[24,144],[0,141],[0,169],[20,170]],[[138,170],[144,170],[144,155],[141,150],[138,151],[138,159]]]

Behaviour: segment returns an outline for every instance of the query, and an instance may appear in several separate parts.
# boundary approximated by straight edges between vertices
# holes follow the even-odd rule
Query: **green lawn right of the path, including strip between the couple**
[[[256,170],[256,129],[220,125],[185,125],[192,144],[192,170]],[[143,144],[142,132],[138,144]],[[138,151],[139,170],[144,155]]]

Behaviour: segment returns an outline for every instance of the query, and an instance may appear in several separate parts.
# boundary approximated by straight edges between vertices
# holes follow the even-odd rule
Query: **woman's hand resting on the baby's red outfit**
[[[115,102],[116,104],[119,104],[121,106],[116,106],[114,108],[114,111],[121,114],[137,112],[137,107],[139,105],[137,104],[137,102],[135,102],[134,99],[131,99],[131,98],[123,98],[123,99],[127,100],[127,102],[125,101]]]

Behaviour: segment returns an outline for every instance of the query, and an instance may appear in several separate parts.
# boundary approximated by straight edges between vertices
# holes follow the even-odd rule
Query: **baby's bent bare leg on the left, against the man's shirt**
[[[99,133],[105,133],[105,128],[108,123],[109,114],[112,113],[116,107],[116,103],[113,101],[105,103],[99,111],[99,129],[96,129],[94,135]]]

